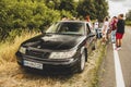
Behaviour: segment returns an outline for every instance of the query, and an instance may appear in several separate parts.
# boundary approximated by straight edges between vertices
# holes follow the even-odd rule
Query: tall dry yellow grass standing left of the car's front
[[[15,61],[15,52],[17,51],[20,45],[37,35],[35,32],[22,32],[21,36],[16,36],[14,40],[5,40],[4,42],[0,42],[0,64],[5,62],[14,62]]]

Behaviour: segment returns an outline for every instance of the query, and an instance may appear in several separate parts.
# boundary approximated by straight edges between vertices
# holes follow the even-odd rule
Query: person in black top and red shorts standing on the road
[[[123,34],[124,34],[123,14],[119,14],[118,23],[117,23],[117,33],[116,33],[116,50],[121,49]]]

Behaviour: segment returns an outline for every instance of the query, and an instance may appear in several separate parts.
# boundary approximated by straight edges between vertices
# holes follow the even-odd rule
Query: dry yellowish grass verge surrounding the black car
[[[50,76],[37,75],[23,71],[15,61],[15,52],[22,41],[34,37],[37,33],[22,33],[13,41],[0,44],[0,87],[97,87],[97,71],[105,54],[105,47],[98,41],[81,74]]]

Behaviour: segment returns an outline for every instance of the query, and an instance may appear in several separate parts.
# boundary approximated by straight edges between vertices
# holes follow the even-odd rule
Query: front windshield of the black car
[[[71,22],[59,22],[52,24],[46,33],[56,33],[56,34],[84,34],[84,23],[71,23]]]

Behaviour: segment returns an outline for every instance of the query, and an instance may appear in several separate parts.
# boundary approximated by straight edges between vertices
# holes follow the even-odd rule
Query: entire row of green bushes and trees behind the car
[[[10,32],[24,28],[45,29],[53,22],[68,17],[103,21],[108,15],[106,0],[0,0],[0,39]]]

